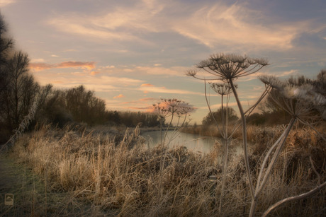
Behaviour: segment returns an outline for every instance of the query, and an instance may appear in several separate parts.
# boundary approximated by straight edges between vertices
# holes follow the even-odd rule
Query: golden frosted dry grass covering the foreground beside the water
[[[250,156],[254,177],[257,177],[262,160],[260,154],[264,153],[277,131],[269,136],[264,134],[264,131],[259,131],[253,136],[257,143],[254,154]],[[313,136],[307,131],[296,131],[289,136],[283,158],[277,163],[259,198],[257,214],[284,197],[307,192],[316,186],[317,177],[309,170],[304,157],[307,153],[312,153],[316,168],[325,180],[325,144],[317,136],[311,138]],[[299,141],[301,144],[297,145]],[[308,144],[313,148],[308,148]],[[162,146],[148,149],[137,129],[115,139],[114,135],[100,131],[86,133],[85,130],[45,127],[23,136],[14,146],[11,156],[30,165],[33,172],[46,180],[50,192],[69,192],[72,195],[70,203],[74,201],[79,203],[79,207],[84,207],[70,210],[69,215],[216,215],[221,188],[220,165],[216,163],[218,153],[212,151],[199,155],[184,147],[169,149],[160,175],[160,159],[164,153]],[[320,156],[317,153],[321,153]],[[229,165],[221,214],[247,216],[251,201],[243,159],[231,157]],[[210,175],[215,175],[217,180],[211,182]],[[158,198],[158,195],[162,197]],[[321,189],[314,197],[293,201],[276,209],[272,215],[311,216],[319,211],[322,215],[325,198],[325,189]],[[69,210],[68,205],[60,207],[61,213]],[[49,216],[56,213],[47,211]]]

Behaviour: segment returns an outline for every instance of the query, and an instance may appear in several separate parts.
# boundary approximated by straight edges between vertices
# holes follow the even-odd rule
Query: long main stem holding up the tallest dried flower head
[[[252,184],[252,177],[250,174],[250,168],[249,168],[249,159],[248,159],[248,148],[247,148],[247,124],[246,124],[246,117],[245,117],[245,112],[243,112],[241,102],[239,100],[239,97],[237,95],[237,90],[235,89],[235,85],[233,84],[232,79],[230,81],[230,86],[232,88],[232,92],[235,95],[235,100],[237,100],[237,107],[239,107],[240,115],[241,115],[241,120],[242,120],[242,143],[243,143],[243,151],[245,154],[245,167],[246,167],[246,172],[247,172],[247,178],[249,182],[249,190],[250,194],[252,196],[252,199],[254,199],[254,186]]]

